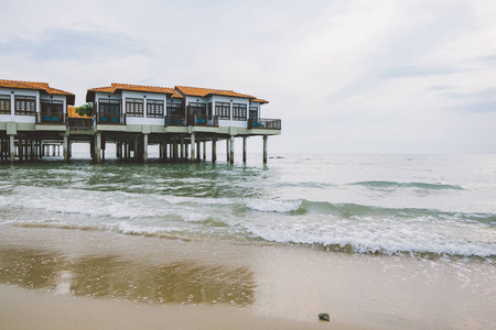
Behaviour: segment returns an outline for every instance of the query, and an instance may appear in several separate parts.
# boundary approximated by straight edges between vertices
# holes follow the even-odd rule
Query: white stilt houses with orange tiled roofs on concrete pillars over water
[[[26,107],[19,97],[32,95],[34,105],[19,113]],[[268,136],[281,133],[280,119],[260,117],[268,101],[233,90],[112,82],[88,89],[86,101],[94,113],[87,117],[71,107],[74,98],[46,82],[0,80],[0,161],[37,160],[60,155],[61,148],[68,161],[72,143],[86,142],[95,163],[105,161],[108,143],[116,145],[119,160],[145,163],[149,145],[158,145],[161,160],[200,162],[206,160],[209,143],[215,163],[218,142],[225,141],[226,161],[233,164],[235,139],[241,138],[246,163],[247,139],[262,136],[267,163]]]

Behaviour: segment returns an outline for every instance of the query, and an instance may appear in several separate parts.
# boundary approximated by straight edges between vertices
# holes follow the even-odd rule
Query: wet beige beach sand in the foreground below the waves
[[[495,278],[487,261],[3,226],[0,328],[495,329]]]

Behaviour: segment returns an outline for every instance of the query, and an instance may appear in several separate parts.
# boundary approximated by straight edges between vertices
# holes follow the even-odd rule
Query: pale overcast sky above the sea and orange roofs
[[[282,120],[269,153],[496,153],[495,18],[495,0],[0,0],[0,78],[76,105],[110,82],[254,95]]]

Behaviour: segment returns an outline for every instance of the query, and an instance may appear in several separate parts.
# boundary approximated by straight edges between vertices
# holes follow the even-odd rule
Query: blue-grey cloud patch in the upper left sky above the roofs
[[[88,62],[95,57],[147,55],[145,43],[117,33],[53,30],[39,40],[11,38],[0,42],[3,56],[25,56],[30,61]]]

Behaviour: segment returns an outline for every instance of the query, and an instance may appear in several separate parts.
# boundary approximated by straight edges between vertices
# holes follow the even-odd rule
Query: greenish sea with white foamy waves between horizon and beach
[[[496,155],[0,166],[1,227],[496,261]],[[219,160],[224,160],[219,156]]]

